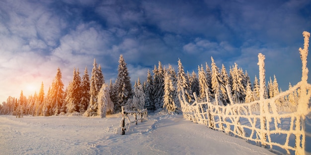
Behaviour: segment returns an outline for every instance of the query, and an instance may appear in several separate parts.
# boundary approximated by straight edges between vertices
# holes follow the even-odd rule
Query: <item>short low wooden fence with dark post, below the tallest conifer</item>
[[[122,108],[122,119],[121,119],[120,125],[121,125],[122,135],[125,134],[125,130],[126,130],[125,126],[128,126],[130,123],[136,123],[136,125],[137,125],[137,122],[139,120],[141,122],[143,122],[143,120],[148,117],[147,109],[142,109],[142,110],[138,110],[138,111],[136,111],[136,110],[129,111],[129,110],[125,110],[124,106],[122,106],[121,108]],[[134,117],[135,117],[135,120],[133,120],[133,121],[131,121],[130,117],[129,117],[129,115],[131,115],[131,114],[134,115]],[[138,115],[141,118],[137,118]],[[125,124],[125,119],[126,118],[129,120],[129,122]]]

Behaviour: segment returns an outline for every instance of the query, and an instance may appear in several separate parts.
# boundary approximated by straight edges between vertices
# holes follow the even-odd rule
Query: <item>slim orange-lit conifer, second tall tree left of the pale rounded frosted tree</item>
[[[90,82],[89,82],[89,76],[87,72],[87,67],[84,69],[84,75],[82,76],[82,81],[81,81],[81,101],[78,104],[78,109],[80,113],[84,113],[85,110],[87,109],[87,106],[89,104],[89,90],[90,90]]]

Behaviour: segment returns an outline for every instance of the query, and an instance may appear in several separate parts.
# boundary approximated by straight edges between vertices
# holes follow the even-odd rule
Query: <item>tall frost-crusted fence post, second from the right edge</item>
[[[266,103],[265,103],[265,98],[264,98],[264,93],[265,93],[265,55],[262,53],[258,54],[258,65],[259,65],[259,104],[260,104],[260,131],[261,131],[261,145],[264,148],[267,148],[267,120],[266,120]]]

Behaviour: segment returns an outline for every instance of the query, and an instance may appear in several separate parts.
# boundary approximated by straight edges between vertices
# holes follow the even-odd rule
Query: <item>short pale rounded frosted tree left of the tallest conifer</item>
[[[97,115],[99,115],[101,118],[106,117],[108,107],[111,109],[113,107],[113,103],[110,100],[109,87],[104,83],[98,93]]]

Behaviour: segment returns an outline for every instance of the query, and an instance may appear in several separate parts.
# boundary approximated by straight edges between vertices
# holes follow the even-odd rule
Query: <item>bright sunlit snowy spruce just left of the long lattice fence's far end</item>
[[[172,67],[165,71],[164,74],[164,96],[163,96],[163,108],[166,108],[168,112],[175,112],[177,106],[175,104],[176,87],[174,86],[174,75],[171,73]]]

